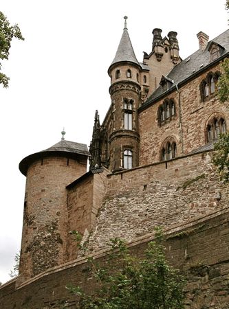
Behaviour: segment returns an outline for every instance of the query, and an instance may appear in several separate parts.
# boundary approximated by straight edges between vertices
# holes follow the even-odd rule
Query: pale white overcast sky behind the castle
[[[1,207],[0,282],[6,282],[20,250],[25,176],[24,157],[65,139],[91,141],[94,113],[102,120],[110,104],[111,64],[127,15],[135,54],[151,52],[152,30],[177,31],[180,56],[199,48],[196,34],[210,40],[228,28],[226,0],[1,0],[0,10],[18,23],[25,41],[14,39],[0,86]]]

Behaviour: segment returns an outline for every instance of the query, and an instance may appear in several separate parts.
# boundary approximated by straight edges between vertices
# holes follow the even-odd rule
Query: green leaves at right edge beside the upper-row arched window
[[[222,74],[217,82],[218,98],[221,103],[229,101],[229,59],[226,58],[221,64]]]

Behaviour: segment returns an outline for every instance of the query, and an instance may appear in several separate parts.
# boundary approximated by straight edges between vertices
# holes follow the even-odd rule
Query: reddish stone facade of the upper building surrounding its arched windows
[[[219,71],[219,66],[208,69],[185,84],[179,89],[179,93],[173,91],[167,96],[175,102],[175,116],[171,121],[167,120],[161,126],[157,121],[158,108],[165,98],[139,113],[140,165],[160,161],[162,144],[168,137],[173,137],[176,141],[178,156],[204,146],[207,143],[208,120],[214,115],[220,115],[229,125],[229,104],[221,104],[213,94],[205,102],[201,101],[199,85],[209,72],[215,71]]]

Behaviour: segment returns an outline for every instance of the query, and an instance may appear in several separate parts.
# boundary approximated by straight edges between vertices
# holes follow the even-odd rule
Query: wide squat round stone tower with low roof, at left
[[[85,174],[88,156],[85,144],[62,139],[19,163],[26,176],[20,281],[65,262],[65,187]]]

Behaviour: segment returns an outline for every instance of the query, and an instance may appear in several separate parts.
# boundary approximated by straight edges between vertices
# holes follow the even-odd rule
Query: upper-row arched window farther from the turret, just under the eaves
[[[219,79],[220,73],[217,71],[215,73],[208,73],[206,78],[201,81],[199,85],[201,101],[205,102],[215,95],[216,84]]]

